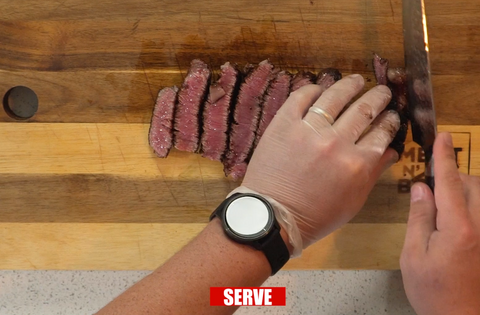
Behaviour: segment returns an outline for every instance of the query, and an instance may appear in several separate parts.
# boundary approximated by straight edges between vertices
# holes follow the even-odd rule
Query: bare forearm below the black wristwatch
[[[187,246],[98,314],[232,314],[210,307],[210,287],[259,286],[270,275],[265,255],[225,236],[214,219]]]

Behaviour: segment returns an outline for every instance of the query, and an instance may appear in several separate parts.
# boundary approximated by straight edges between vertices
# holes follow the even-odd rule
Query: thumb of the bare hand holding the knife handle
[[[432,233],[436,230],[437,209],[432,191],[424,183],[412,186],[410,214],[404,248],[426,252]]]

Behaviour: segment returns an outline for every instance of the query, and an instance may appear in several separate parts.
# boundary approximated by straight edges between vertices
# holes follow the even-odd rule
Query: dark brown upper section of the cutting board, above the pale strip
[[[333,66],[369,79],[373,51],[403,65],[400,0],[0,4],[0,96],[34,89],[31,121],[147,123],[155,94],[181,84],[193,58],[214,69],[270,58],[284,69]],[[480,9],[467,0],[426,6],[438,122],[478,125]],[[11,119],[2,112],[0,121]]]

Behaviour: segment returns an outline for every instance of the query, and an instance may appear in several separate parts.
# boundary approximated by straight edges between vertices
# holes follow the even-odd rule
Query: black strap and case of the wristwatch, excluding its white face
[[[242,196],[253,196],[255,198],[260,199],[269,208],[271,208],[273,212],[273,208],[270,205],[270,203],[262,196],[258,196],[254,194],[237,193],[225,199],[220,204],[220,206],[218,206],[217,209],[211,214],[210,220],[218,216],[220,221],[222,222],[222,226],[224,227],[224,231],[225,231],[225,224],[226,224],[225,210],[227,209],[231,201]],[[280,269],[282,269],[282,267],[287,263],[287,261],[290,258],[290,252],[288,251],[288,247],[287,245],[285,245],[285,242],[283,241],[282,236],[280,235],[281,227],[278,224],[275,217],[273,218],[273,220],[274,220],[274,226],[270,231],[270,233],[268,233],[266,236],[262,237],[259,240],[244,241],[244,240],[240,240],[235,237],[232,237],[232,235],[230,235],[229,233],[226,233],[230,239],[241,244],[252,246],[257,250],[262,251],[265,254],[265,257],[267,258],[270,264],[270,267],[272,268],[272,276],[276,274]]]

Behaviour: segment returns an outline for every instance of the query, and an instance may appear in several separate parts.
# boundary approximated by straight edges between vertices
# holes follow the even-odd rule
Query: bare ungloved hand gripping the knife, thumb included
[[[435,196],[412,187],[400,265],[418,315],[480,314],[480,179],[457,170],[452,138],[434,145]]]

